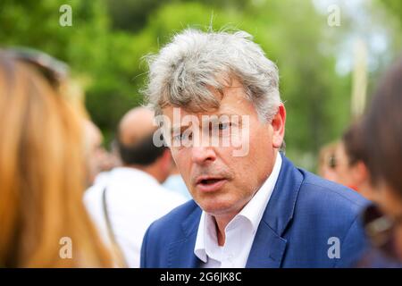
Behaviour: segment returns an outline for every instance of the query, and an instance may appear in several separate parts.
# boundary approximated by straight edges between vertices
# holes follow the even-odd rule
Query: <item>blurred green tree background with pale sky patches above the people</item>
[[[72,26],[59,8],[70,4]],[[330,27],[331,4],[340,26]],[[86,84],[86,106],[105,145],[121,115],[142,103],[147,64],[181,29],[244,29],[280,68],[288,111],[287,155],[314,171],[323,144],[351,120],[353,45],[368,50],[368,94],[401,49],[400,0],[43,0],[0,2],[1,46],[31,46],[62,59]]]

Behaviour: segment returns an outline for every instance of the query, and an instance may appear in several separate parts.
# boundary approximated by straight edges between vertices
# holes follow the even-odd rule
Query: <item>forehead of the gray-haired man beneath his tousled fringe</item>
[[[191,111],[186,107],[175,107],[167,105],[163,108],[163,115],[173,118],[175,108],[180,110],[180,115],[196,115],[200,120],[203,115],[248,115],[257,116],[255,106],[247,98],[247,94],[239,82],[239,80],[232,80],[229,87],[222,88],[218,91],[215,88],[210,88],[214,96],[219,100],[220,105],[218,108],[209,109],[207,111]],[[176,109],[177,112],[177,109]]]

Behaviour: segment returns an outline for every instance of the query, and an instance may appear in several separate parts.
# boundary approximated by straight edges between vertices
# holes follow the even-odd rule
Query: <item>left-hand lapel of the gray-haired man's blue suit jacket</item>
[[[194,211],[181,223],[182,239],[169,246],[169,268],[197,268],[200,260],[194,254],[201,209],[195,202]]]

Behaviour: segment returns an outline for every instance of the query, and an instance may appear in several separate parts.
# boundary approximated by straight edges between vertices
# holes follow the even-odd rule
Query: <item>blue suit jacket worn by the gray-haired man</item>
[[[246,266],[351,266],[366,246],[359,213],[368,201],[282,159]],[[201,213],[191,200],[152,223],[143,240],[141,267],[198,267],[194,247]],[[339,244],[330,240],[334,237]],[[330,258],[328,252],[336,253],[337,246],[339,258]]]

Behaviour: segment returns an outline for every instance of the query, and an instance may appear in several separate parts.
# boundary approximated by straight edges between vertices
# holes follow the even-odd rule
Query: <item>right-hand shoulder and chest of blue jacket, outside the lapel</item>
[[[302,182],[297,194],[293,223],[285,235],[289,240],[286,267],[349,267],[366,248],[360,215],[369,201],[355,190],[298,170]],[[339,241],[339,259],[328,251]],[[303,261],[300,264],[300,261]]]

